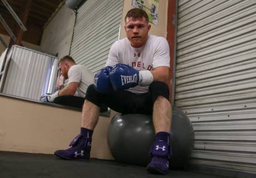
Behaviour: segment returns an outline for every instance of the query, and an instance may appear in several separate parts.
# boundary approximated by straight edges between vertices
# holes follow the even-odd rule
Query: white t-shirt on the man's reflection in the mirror
[[[82,65],[73,65],[67,72],[68,83],[79,83],[74,96],[85,97],[86,90],[93,83],[94,75],[87,67]]]

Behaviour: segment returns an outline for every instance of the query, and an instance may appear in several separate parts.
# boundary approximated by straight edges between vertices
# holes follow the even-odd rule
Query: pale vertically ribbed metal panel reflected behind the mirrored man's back
[[[8,56],[9,66],[3,93],[39,100],[46,91],[53,91],[51,83],[55,80],[57,70],[55,56],[19,46],[13,46]],[[48,75],[51,77],[47,78]]]

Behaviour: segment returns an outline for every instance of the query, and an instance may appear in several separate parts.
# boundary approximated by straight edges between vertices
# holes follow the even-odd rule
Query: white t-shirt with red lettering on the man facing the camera
[[[149,35],[147,42],[140,48],[134,48],[128,38],[116,41],[110,48],[106,66],[124,63],[138,71],[152,71],[156,67],[170,67],[169,45],[165,38]],[[144,93],[149,86],[136,86],[129,91]]]

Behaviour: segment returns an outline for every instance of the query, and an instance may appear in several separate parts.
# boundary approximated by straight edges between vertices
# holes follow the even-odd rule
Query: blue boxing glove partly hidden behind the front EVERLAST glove
[[[95,74],[94,77],[94,88],[100,93],[112,93],[114,92],[112,85],[110,83],[109,72],[112,70],[111,66],[106,66],[102,68],[99,72]]]

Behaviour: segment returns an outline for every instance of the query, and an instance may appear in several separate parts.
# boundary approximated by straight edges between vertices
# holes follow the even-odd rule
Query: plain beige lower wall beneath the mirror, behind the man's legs
[[[1,95],[0,106],[0,151],[53,154],[67,149],[80,131],[81,111]],[[113,116],[100,116],[91,157],[113,159],[106,137]]]

